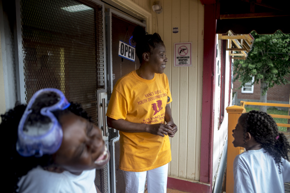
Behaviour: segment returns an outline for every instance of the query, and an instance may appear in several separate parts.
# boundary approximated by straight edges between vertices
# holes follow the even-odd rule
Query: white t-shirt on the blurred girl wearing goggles
[[[64,171],[54,173],[40,166],[30,170],[18,182],[18,193],[96,193],[95,170],[74,175]]]

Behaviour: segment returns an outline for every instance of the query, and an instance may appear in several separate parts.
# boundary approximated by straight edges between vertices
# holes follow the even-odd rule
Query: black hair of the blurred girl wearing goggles
[[[47,117],[39,114],[40,109],[45,106],[51,106],[57,102],[55,93],[43,93],[41,96],[35,99],[34,105],[31,107],[33,113],[29,116],[27,124],[33,122],[47,122]],[[5,189],[7,193],[16,193],[18,187],[17,183],[21,176],[27,174],[31,169],[41,166],[47,167],[53,164],[52,155],[43,155],[42,157],[22,157],[16,151],[17,142],[17,128],[19,121],[23,115],[26,105],[19,105],[7,111],[1,115],[2,122],[0,123],[1,131],[1,147],[2,147],[2,159],[4,168],[4,181]],[[68,113],[81,116],[88,121],[92,122],[91,117],[82,109],[80,104],[70,102],[70,106],[62,111],[52,112],[56,119]]]

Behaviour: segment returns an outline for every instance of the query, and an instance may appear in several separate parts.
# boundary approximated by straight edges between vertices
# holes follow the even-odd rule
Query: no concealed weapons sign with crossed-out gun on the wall
[[[174,66],[192,66],[192,42],[174,43]]]

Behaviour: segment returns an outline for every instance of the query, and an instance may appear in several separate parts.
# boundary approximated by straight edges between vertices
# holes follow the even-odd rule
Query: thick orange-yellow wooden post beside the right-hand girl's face
[[[226,161],[226,185],[225,192],[233,193],[233,160],[235,156],[240,154],[240,148],[235,148],[232,145],[233,137],[232,130],[237,124],[237,120],[245,109],[241,106],[226,107],[228,113],[228,131],[227,131],[227,161]]]

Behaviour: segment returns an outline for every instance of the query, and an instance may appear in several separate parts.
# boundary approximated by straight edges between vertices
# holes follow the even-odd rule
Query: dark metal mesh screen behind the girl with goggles
[[[105,89],[102,17],[91,0],[20,0],[26,103],[41,88],[57,88],[97,125],[96,91]],[[107,170],[96,171],[102,193]]]

